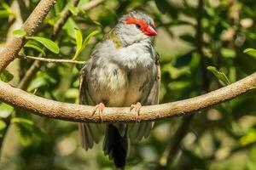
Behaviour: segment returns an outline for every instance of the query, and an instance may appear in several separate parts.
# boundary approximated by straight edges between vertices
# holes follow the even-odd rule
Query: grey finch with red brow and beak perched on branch
[[[90,59],[83,65],[79,77],[79,104],[94,105],[101,119],[104,108],[130,107],[138,118],[143,105],[157,105],[160,97],[159,55],[154,52],[157,35],[154,20],[139,11],[124,14],[116,26],[96,43]],[[115,167],[125,168],[130,139],[147,138],[153,122],[79,123],[79,133],[85,150],[98,143],[105,133],[102,150]]]

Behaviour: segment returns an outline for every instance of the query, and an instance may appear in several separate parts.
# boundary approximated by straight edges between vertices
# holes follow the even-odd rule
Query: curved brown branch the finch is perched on
[[[195,98],[161,105],[144,106],[138,116],[138,121],[156,121],[172,116],[189,115],[194,111],[234,99],[255,87],[256,72],[229,86]],[[71,122],[101,122],[98,114],[92,116],[94,106],[73,105],[44,99],[28,94],[19,88],[13,88],[5,82],[0,82],[0,100],[26,111],[32,111],[39,116]],[[132,114],[129,109],[128,107],[106,108],[104,109],[102,122],[136,122],[136,114]]]

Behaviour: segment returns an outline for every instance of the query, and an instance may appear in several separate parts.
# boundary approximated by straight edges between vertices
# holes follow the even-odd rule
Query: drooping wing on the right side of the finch
[[[154,79],[154,85],[148,94],[148,99],[145,102],[145,105],[157,105],[159,104],[160,99],[160,55],[155,54],[154,66],[156,68],[156,75]],[[150,134],[150,131],[153,127],[153,122],[141,122],[133,124],[131,127],[131,139],[139,141],[141,139],[147,138]]]

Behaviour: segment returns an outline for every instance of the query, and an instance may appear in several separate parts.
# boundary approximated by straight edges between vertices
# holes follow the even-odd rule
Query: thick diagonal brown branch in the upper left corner
[[[26,31],[27,36],[32,36],[54,4],[55,0],[41,0],[40,3],[38,3],[38,6],[21,27],[22,30]],[[3,52],[0,53],[0,72],[15,59],[25,41],[25,38],[13,37],[6,43]]]

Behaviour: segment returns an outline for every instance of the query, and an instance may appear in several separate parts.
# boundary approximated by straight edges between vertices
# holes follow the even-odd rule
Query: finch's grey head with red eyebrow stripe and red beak
[[[115,26],[115,32],[125,45],[142,40],[151,41],[151,37],[157,35],[154,20],[147,14],[137,11],[131,11],[122,16]]]

